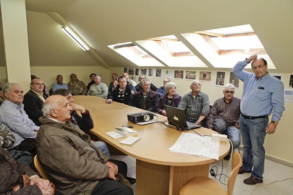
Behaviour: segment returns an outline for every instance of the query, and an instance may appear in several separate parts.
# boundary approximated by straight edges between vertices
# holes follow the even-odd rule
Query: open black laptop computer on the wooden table
[[[186,121],[184,110],[175,108],[172,106],[165,106],[168,123],[176,127],[182,127],[183,129],[195,129],[201,127],[200,125],[195,125],[195,123]]]

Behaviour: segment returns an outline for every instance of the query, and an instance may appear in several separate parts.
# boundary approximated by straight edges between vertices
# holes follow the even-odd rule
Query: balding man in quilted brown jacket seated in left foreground
[[[127,165],[93,146],[90,137],[68,121],[71,109],[65,97],[49,96],[40,118],[37,154],[56,188],[63,194],[132,195],[130,187],[117,182],[118,177],[125,180]]]

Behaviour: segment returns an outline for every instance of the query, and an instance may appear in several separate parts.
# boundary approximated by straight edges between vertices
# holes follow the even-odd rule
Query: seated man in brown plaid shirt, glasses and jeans
[[[241,99],[234,97],[234,90],[235,87],[233,84],[228,83],[224,86],[224,97],[217,99],[214,102],[213,108],[207,118],[207,128],[209,129],[212,129],[214,118],[217,116],[226,122],[227,136],[233,143],[233,150],[240,145],[239,117],[241,113]],[[230,159],[231,150],[232,148],[230,148],[230,152],[224,157],[224,160]]]

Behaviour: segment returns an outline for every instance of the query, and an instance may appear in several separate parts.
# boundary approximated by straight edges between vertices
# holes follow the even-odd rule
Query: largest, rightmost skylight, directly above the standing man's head
[[[181,34],[216,68],[233,68],[237,61],[258,55],[275,69],[270,57],[250,25]],[[246,68],[251,68],[250,65]]]

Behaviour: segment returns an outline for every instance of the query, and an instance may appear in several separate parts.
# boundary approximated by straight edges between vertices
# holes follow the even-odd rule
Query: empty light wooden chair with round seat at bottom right
[[[186,182],[180,189],[180,195],[202,194],[202,195],[232,195],[236,177],[241,166],[242,159],[238,152],[234,152],[232,157],[232,172],[228,179],[228,191],[220,184],[209,177],[195,177]]]

